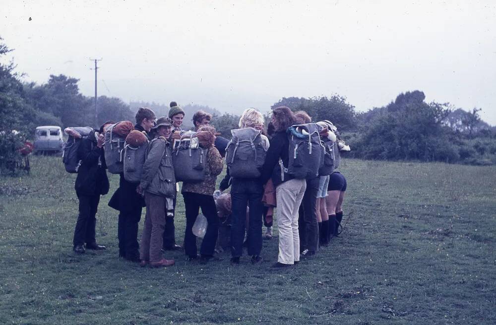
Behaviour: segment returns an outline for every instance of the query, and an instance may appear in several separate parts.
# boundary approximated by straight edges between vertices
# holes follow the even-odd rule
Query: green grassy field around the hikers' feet
[[[496,323],[495,166],[344,160],[342,238],[275,272],[277,238],[257,266],[227,253],[207,265],[167,253],[176,265],[162,269],[119,259],[110,195],[97,216],[108,250],[76,256],[75,177],[60,157],[31,165],[0,178],[0,324]]]

